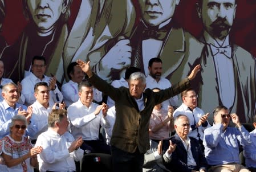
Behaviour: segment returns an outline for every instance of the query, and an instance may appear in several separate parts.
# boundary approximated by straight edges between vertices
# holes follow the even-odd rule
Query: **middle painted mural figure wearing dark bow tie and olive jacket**
[[[131,35],[131,65],[148,75],[148,61],[161,58],[162,76],[172,83],[185,77],[203,44],[172,19],[180,0],[139,0],[141,18]]]

